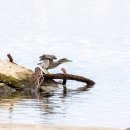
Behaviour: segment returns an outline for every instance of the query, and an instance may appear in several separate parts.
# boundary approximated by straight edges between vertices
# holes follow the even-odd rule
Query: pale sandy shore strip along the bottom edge
[[[1,124],[0,130],[125,130],[119,128],[101,128],[86,126],[66,126],[66,125],[32,125],[32,124]]]

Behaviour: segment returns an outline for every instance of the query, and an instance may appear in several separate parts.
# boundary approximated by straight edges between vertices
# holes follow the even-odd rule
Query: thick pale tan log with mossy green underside
[[[0,60],[0,81],[15,89],[29,86],[32,70],[9,61]]]

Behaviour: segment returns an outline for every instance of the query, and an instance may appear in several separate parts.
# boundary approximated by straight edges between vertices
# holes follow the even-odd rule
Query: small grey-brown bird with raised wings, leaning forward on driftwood
[[[59,66],[60,64],[66,63],[66,62],[71,62],[71,60],[68,60],[66,58],[59,59],[57,61],[54,61],[57,59],[56,56],[54,55],[42,55],[39,57],[41,63],[38,63],[38,67],[45,73],[48,74],[48,69],[53,69]]]

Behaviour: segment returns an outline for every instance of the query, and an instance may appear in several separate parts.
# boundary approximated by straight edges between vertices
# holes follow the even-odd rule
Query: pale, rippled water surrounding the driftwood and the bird
[[[89,91],[0,100],[0,122],[129,127],[129,0],[0,0],[0,58],[34,69],[43,53],[73,60],[69,73],[93,79]],[[68,88],[84,84],[68,82]],[[61,87],[62,88],[62,87]]]

